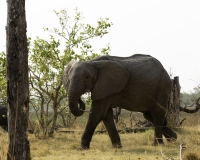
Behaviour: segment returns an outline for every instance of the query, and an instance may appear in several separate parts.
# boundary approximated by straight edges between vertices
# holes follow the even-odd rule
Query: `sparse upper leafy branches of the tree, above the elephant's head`
[[[66,10],[55,11],[55,14],[58,17],[60,29],[45,28],[45,30],[65,39],[64,55],[62,55],[63,63],[68,63],[71,60],[85,61],[98,55],[108,54],[110,50],[109,44],[101,49],[101,53],[95,53],[92,45],[89,43],[89,40],[95,37],[102,38],[108,34],[108,28],[112,26],[112,23],[108,22],[108,18],[105,20],[100,18],[97,21],[97,26],[93,27],[90,24],[82,23],[84,17],[77,9],[75,9],[73,18],[68,15]]]

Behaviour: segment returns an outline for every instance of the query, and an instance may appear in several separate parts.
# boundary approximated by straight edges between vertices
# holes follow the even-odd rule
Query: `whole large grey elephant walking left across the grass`
[[[91,61],[70,62],[63,74],[63,84],[74,116],[84,112],[81,95],[91,92],[92,106],[79,149],[90,147],[100,121],[103,121],[113,147],[121,147],[112,111],[118,106],[142,112],[154,124],[153,145],[163,144],[162,135],[169,141],[177,138],[176,133],[166,126],[165,119],[172,88],[170,77],[162,64],[149,55],[101,56]]]

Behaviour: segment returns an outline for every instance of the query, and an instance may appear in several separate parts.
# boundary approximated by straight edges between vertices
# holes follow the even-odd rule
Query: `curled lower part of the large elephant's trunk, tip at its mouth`
[[[69,88],[68,92],[69,108],[71,113],[76,117],[81,116],[85,110],[85,104],[80,99],[80,96],[81,94],[78,94],[76,90],[72,90],[71,88]]]

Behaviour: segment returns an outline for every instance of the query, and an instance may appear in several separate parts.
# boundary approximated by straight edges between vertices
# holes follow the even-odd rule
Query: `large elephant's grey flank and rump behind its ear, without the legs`
[[[157,59],[136,55],[130,60],[121,61],[121,65],[128,70],[129,80],[118,96],[135,105],[131,108],[136,111],[145,111],[149,109],[149,106],[155,106],[159,96],[169,97],[171,80]]]

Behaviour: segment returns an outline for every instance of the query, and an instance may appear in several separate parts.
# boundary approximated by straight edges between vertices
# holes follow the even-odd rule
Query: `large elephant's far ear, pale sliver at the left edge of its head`
[[[73,66],[73,64],[75,63],[75,61],[70,61],[67,66],[64,69],[63,75],[62,75],[62,83],[65,87],[65,89],[67,90],[69,87],[69,71],[71,69],[71,67]]]

